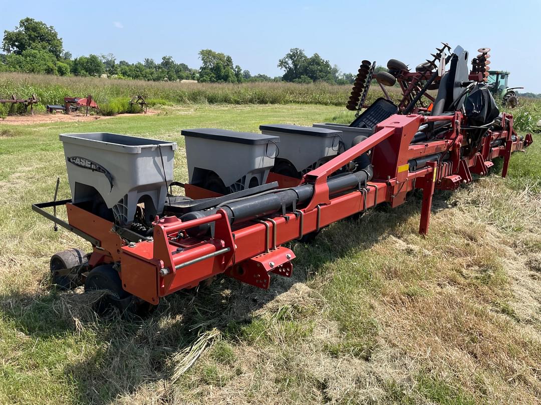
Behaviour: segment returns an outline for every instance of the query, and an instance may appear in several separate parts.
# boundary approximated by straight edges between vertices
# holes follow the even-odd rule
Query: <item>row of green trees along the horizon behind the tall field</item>
[[[199,52],[201,67],[189,68],[177,63],[171,56],[160,62],[146,58],[143,62],[117,62],[111,53],[73,58],[63,48],[62,38],[53,26],[33,18],[23,18],[12,31],[5,30],[0,53],[0,71],[44,73],[58,76],[102,76],[118,79],[154,81],[197,80],[208,83],[242,83],[285,81],[293,83],[326,82],[331,84],[353,83],[355,75],[341,73],[318,53],[311,57],[299,48],[291,49],[278,61],[283,76],[252,75],[233,63],[225,53],[203,49]]]

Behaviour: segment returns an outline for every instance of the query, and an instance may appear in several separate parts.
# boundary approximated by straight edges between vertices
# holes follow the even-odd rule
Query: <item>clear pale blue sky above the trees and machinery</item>
[[[362,59],[415,66],[444,41],[470,57],[491,48],[491,68],[511,71],[510,85],[541,93],[541,0],[0,3],[2,31],[27,16],[39,19],[55,27],[74,56],[113,53],[136,62],[170,55],[197,68],[197,52],[210,48],[252,74],[277,76],[276,63],[290,48],[355,72]]]

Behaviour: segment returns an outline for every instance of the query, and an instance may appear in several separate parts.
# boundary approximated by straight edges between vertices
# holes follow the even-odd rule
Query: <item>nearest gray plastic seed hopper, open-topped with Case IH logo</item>
[[[163,211],[176,143],[104,132],[62,134],[60,140],[74,204],[91,201],[103,210],[101,197],[120,225],[131,224],[138,203],[147,219]]]

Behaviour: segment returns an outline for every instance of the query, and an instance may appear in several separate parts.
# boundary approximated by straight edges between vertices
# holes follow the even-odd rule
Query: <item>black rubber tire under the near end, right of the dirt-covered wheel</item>
[[[117,307],[116,299],[128,298],[131,294],[122,288],[122,280],[113,265],[101,265],[94,267],[87,275],[84,282],[84,291],[108,290],[111,295],[104,295],[94,305],[94,310],[100,315],[108,314],[113,307]]]

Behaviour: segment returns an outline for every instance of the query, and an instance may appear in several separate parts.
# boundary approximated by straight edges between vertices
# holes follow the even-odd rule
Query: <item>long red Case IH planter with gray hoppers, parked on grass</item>
[[[295,254],[283,244],[310,240],[381,203],[397,207],[416,188],[423,190],[419,232],[426,234],[434,190],[486,175],[496,158],[505,176],[511,153],[532,143],[513,130],[510,114],[499,113],[484,76],[467,69],[467,52],[448,50],[444,45],[415,72],[391,60],[389,76],[375,79],[399,80],[403,101],[378,99],[351,125],[183,130],[189,184],[173,181],[175,143],[61,135],[72,198],[32,207],[93,251],[55,254],[56,284],[107,289],[102,304],[121,309],[147,309],[222,273],[268,288],[271,273],[292,275]],[[356,86],[367,91],[375,63],[364,62],[369,69]],[[361,98],[366,94],[356,92],[348,108]],[[185,195],[174,195],[173,186]],[[58,206],[68,222],[44,209]]]

